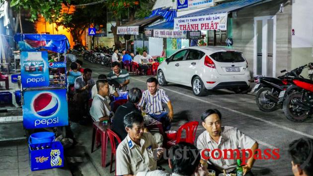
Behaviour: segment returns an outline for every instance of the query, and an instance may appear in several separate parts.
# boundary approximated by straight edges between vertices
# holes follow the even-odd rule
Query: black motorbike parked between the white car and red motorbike
[[[284,84],[281,77],[302,77],[300,74],[308,65],[300,66],[290,72],[282,70],[281,73],[286,72],[283,76],[278,78],[267,76],[255,76],[254,80],[257,83],[252,92],[257,92],[255,101],[256,105],[261,111],[272,112],[279,109],[282,105],[283,99],[279,98],[281,91],[286,90],[292,84]]]

